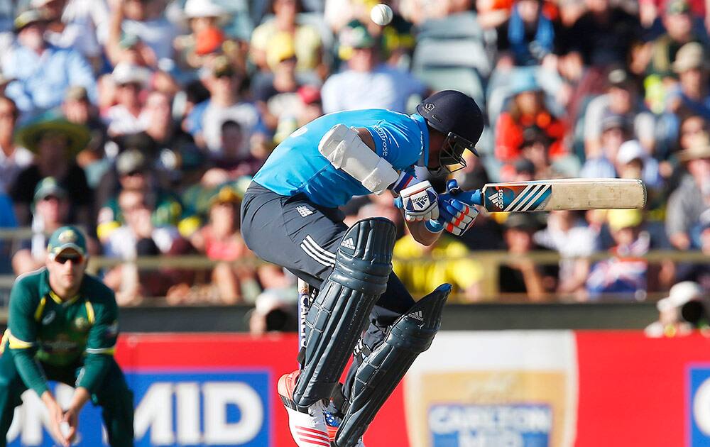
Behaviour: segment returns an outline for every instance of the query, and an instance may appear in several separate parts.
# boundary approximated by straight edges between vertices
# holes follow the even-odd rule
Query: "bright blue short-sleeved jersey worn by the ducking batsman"
[[[321,116],[283,140],[256,173],[254,182],[282,196],[303,193],[315,204],[332,208],[354,196],[371,194],[318,151],[320,140],[337,124],[370,131],[377,155],[395,170],[413,172],[415,165],[427,164],[429,132],[419,114],[385,109],[342,111]]]

